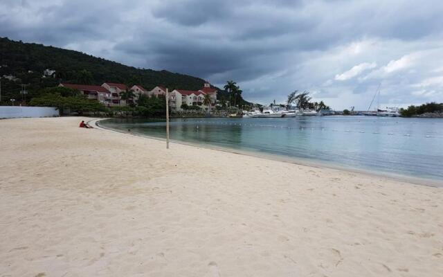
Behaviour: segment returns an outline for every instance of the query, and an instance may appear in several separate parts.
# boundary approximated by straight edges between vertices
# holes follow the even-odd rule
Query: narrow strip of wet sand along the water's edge
[[[100,129],[106,130],[106,131],[111,131],[111,132],[117,132],[120,134],[127,134],[127,135],[131,135],[131,136],[137,136],[137,137],[141,137],[141,138],[145,138],[145,139],[154,139],[156,141],[166,141],[166,139],[161,139],[159,137],[155,137],[155,136],[149,136],[149,135],[145,135],[145,134],[134,134],[131,132],[125,132],[123,130],[118,130],[118,129],[111,129],[108,127],[104,127],[102,125],[100,125],[100,121],[102,120],[108,120],[111,118],[98,118],[98,119],[92,119],[89,120],[89,122],[91,122],[94,127],[99,127]],[[408,176],[408,175],[400,175],[400,174],[395,174],[395,173],[388,173],[388,172],[381,172],[381,171],[377,171],[377,170],[365,170],[365,169],[360,169],[360,168],[351,168],[351,167],[347,167],[347,166],[338,166],[338,165],[334,165],[332,163],[327,163],[327,162],[323,162],[323,161],[312,161],[309,159],[302,159],[302,158],[295,158],[295,157],[283,157],[282,155],[278,155],[278,154],[264,154],[264,153],[257,153],[257,152],[253,152],[253,151],[246,151],[246,150],[237,150],[234,148],[223,148],[223,147],[219,147],[219,146],[214,146],[214,145],[210,145],[210,144],[197,144],[197,143],[188,143],[185,141],[176,141],[176,140],[170,140],[170,143],[177,143],[180,145],[186,145],[186,146],[190,146],[190,147],[194,147],[194,148],[205,148],[208,150],[215,150],[215,151],[220,151],[220,152],[228,152],[228,153],[232,153],[232,154],[239,154],[239,155],[245,155],[248,157],[255,157],[255,158],[259,158],[259,159],[268,159],[271,161],[281,161],[284,163],[291,163],[294,165],[300,165],[300,166],[309,166],[309,167],[313,167],[313,168],[329,168],[332,170],[339,170],[339,171],[343,171],[343,172],[352,172],[352,173],[357,173],[357,174],[363,174],[363,175],[370,175],[372,177],[383,177],[383,178],[387,178],[387,179],[392,179],[395,181],[403,181],[403,182],[407,182],[410,184],[415,184],[415,185],[419,185],[419,186],[430,186],[430,187],[435,187],[435,188],[443,188],[443,180],[437,180],[437,179],[427,179],[427,178],[417,178],[417,177],[412,177],[412,176]]]

